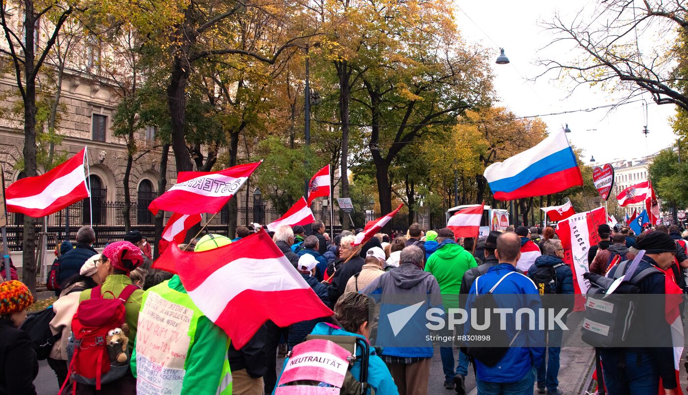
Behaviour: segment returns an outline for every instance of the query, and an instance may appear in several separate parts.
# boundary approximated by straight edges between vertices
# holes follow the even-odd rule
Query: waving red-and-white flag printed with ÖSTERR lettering
[[[148,209],[153,214],[158,210],[181,214],[217,213],[261,162],[239,164],[221,171],[180,171],[177,183],[153,200]]]

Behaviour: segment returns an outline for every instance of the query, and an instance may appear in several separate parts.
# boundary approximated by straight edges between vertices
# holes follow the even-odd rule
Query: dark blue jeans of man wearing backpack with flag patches
[[[602,373],[608,394],[656,395],[659,372],[649,354],[600,350]],[[619,368],[619,362],[626,364]]]

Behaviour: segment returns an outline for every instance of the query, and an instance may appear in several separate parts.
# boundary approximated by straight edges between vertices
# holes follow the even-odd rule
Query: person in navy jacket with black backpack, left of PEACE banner
[[[571,268],[563,262],[563,246],[561,240],[547,239],[540,246],[542,255],[535,258],[535,263],[528,269],[528,277],[535,281],[535,273],[538,268],[550,266],[555,269],[557,276],[555,281],[556,295],[573,295],[573,272]],[[568,312],[573,311],[573,297],[566,300]],[[568,303],[570,302],[570,303]],[[561,321],[566,323],[566,316]],[[560,329],[548,331],[548,358],[546,361],[545,355],[542,355],[542,361],[537,367],[537,390],[538,394],[561,395],[559,386],[559,353],[561,352],[561,339],[563,339],[563,331]]]

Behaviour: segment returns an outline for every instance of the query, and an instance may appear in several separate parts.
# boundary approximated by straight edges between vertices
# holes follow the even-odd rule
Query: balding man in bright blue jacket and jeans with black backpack
[[[499,264],[490,268],[484,275],[473,281],[469,295],[484,295],[493,290],[495,301],[499,308],[530,308],[537,314],[542,304],[539,292],[525,275],[518,273],[516,264],[521,257],[521,241],[515,233],[504,233],[497,238],[495,257]],[[500,297],[499,295],[513,295]],[[471,307],[475,298],[469,296],[466,300],[466,312],[471,322]],[[476,384],[478,394],[533,394],[535,384],[535,367],[539,366],[544,348],[537,347],[544,343],[543,334],[539,330],[529,330],[528,319],[523,318],[523,328],[517,331],[515,314],[509,314],[506,319],[506,337],[510,347],[495,365],[487,366],[480,360],[475,361]],[[464,334],[469,334],[470,325],[464,326]]]

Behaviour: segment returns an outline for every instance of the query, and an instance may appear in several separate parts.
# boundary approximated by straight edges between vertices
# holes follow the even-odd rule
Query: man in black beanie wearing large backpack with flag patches
[[[638,281],[641,294],[666,293],[665,270],[674,263],[676,243],[667,233],[654,231],[641,239],[636,248],[645,250],[645,256],[638,264],[635,273],[630,278],[648,268],[657,268],[655,273]],[[625,268],[631,265],[627,264]],[[608,277],[614,277],[616,269],[610,269]],[[645,310],[647,311],[647,310]],[[652,317],[650,317],[651,314]],[[643,323],[645,328],[643,328]],[[632,331],[642,339],[671,339],[671,329],[666,321],[665,309],[655,308],[635,319],[634,325],[640,328]],[[659,385],[666,394],[674,394],[677,387],[676,371],[674,370],[674,349],[671,347],[652,348],[600,348],[600,356],[604,361],[602,372],[609,394],[640,394],[648,393]]]

